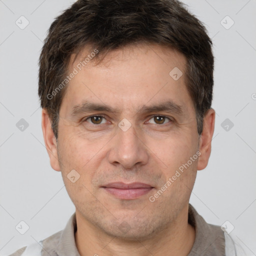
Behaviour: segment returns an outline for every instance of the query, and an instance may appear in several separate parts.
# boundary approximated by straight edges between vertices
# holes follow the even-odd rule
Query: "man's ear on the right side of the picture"
[[[214,124],[215,124],[215,111],[210,108],[204,115],[203,118],[203,129],[200,135],[199,140],[199,151],[201,152],[198,162],[197,162],[197,170],[204,169],[210,157],[211,151],[211,140],[214,132]]]

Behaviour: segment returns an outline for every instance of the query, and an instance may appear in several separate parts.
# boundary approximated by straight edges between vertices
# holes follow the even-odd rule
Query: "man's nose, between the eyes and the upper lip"
[[[117,127],[117,134],[111,141],[108,161],[111,164],[121,164],[123,168],[147,163],[149,155],[143,142],[142,131],[131,125],[127,130]]]

